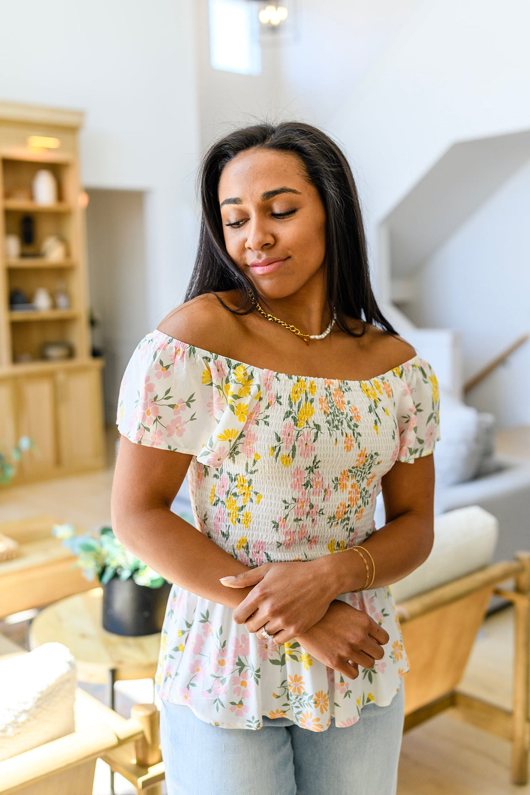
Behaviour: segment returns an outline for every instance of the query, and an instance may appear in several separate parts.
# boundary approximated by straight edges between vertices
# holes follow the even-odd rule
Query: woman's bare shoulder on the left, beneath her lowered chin
[[[205,351],[223,351],[237,335],[241,319],[222,306],[222,301],[236,308],[233,293],[204,293],[180,304],[158,324],[158,331],[182,343],[203,348]]]

